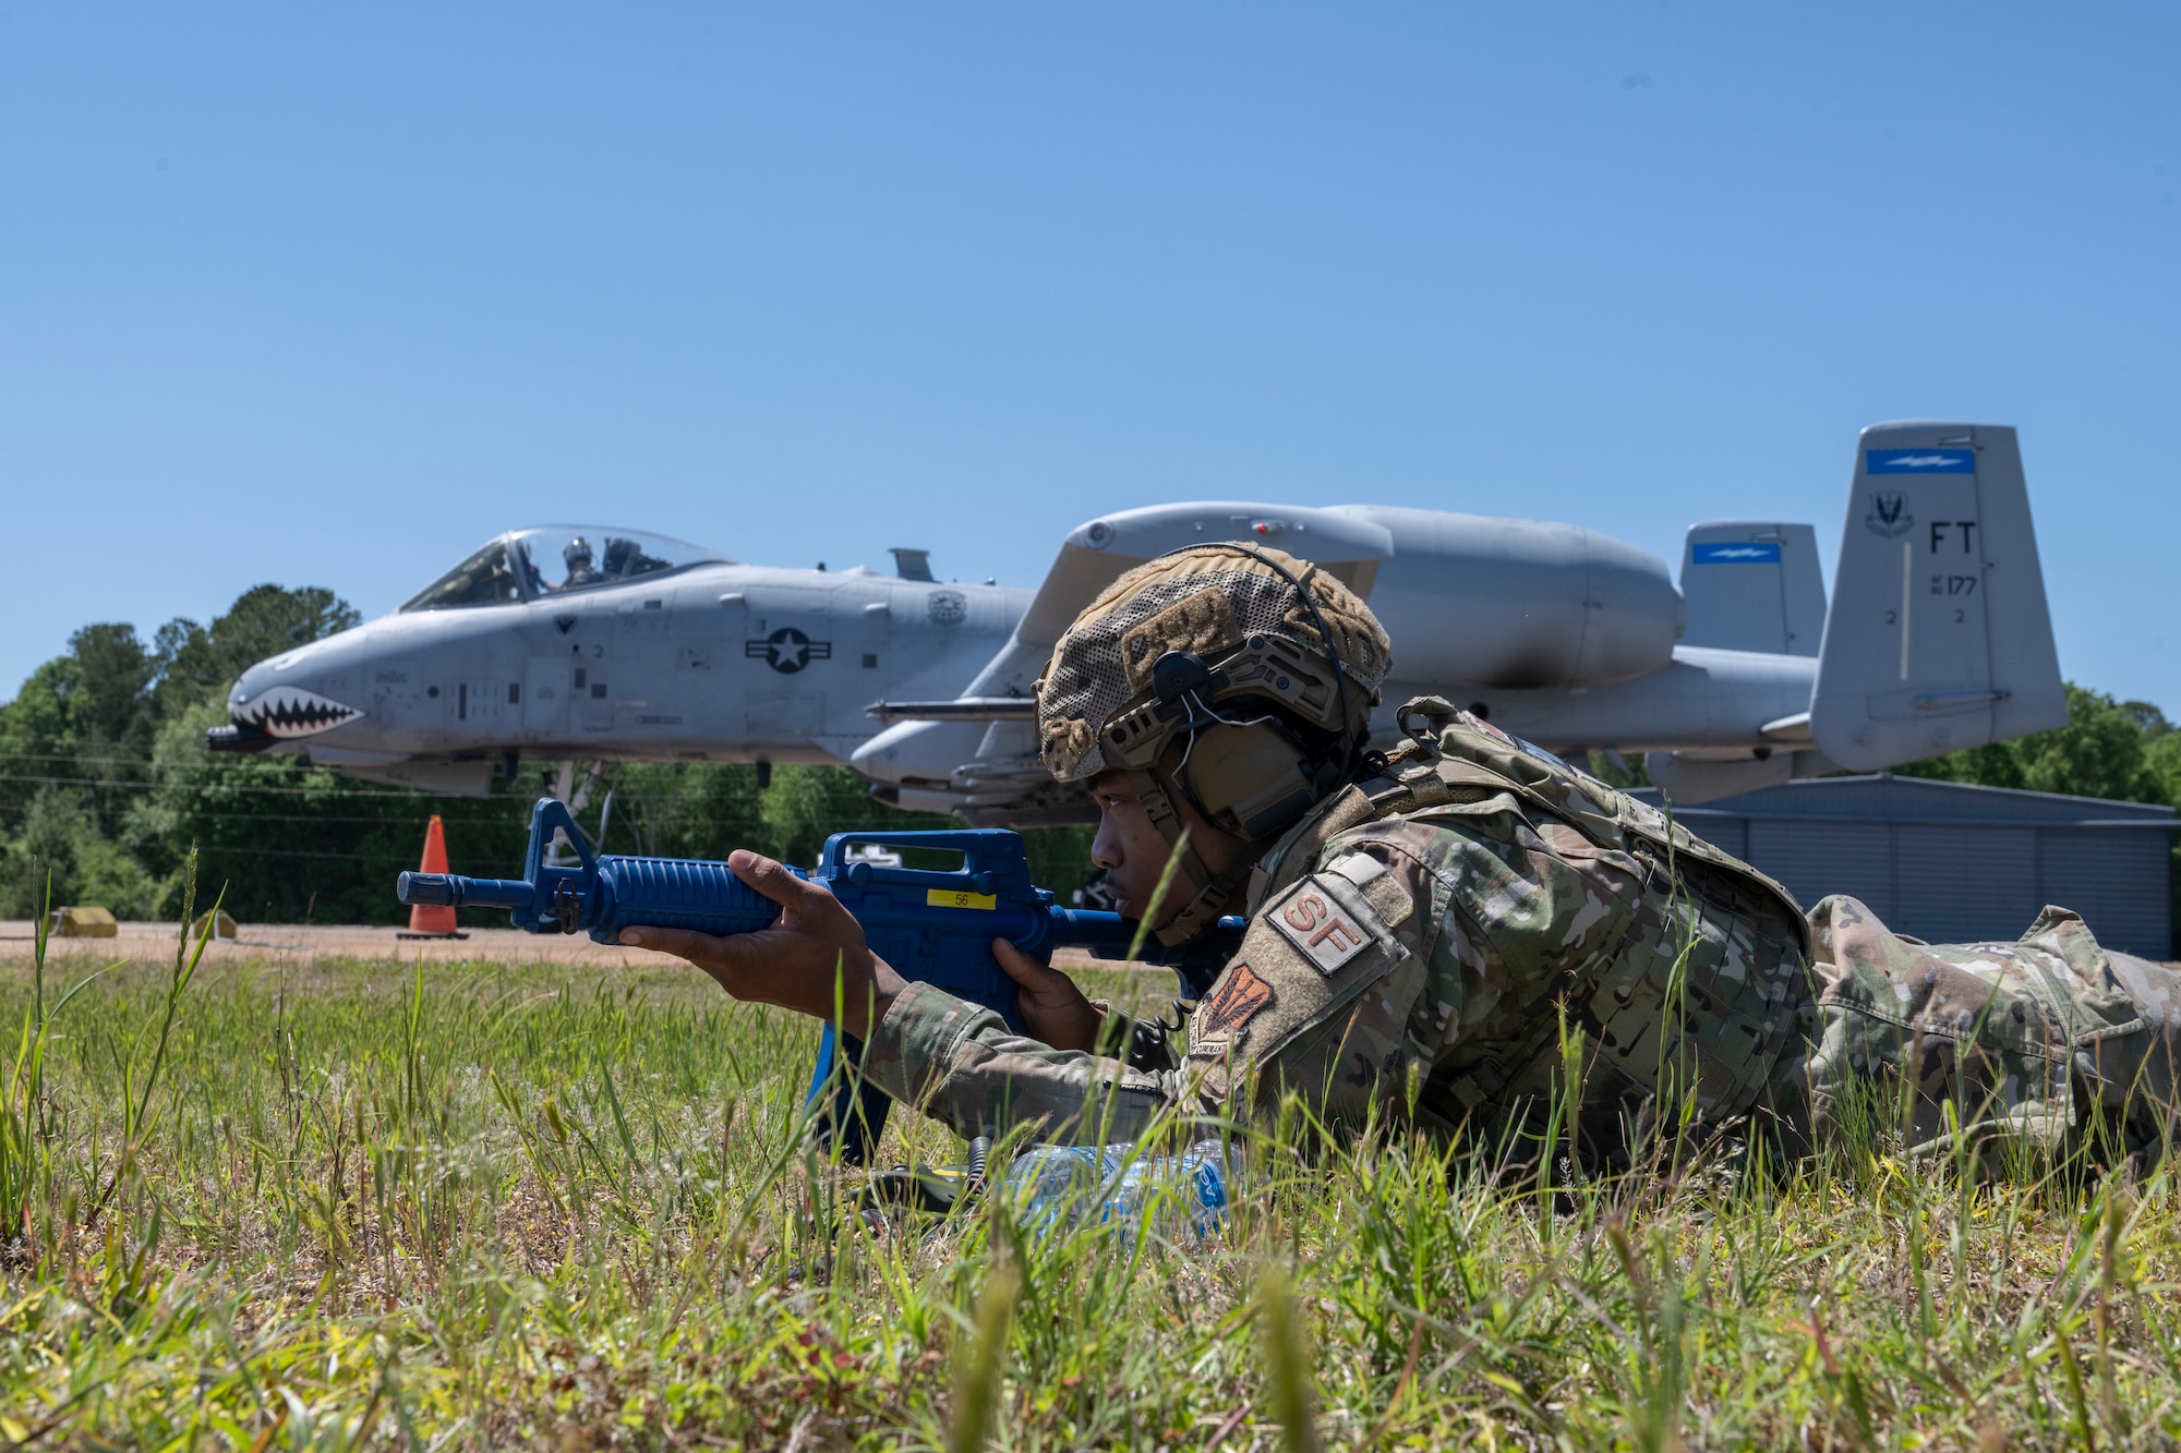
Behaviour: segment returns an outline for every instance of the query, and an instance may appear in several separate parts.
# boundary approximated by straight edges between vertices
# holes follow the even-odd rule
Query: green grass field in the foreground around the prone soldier
[[[800,1152],[811,1028],[694,973],[244,960],[177,990],[131,962],[55,1008],[98,966],[0,982],[28,1025],[0,1124],[11,1440],[2181,1440],[2164,1174],[1972,1189],[1876,1137],[1788,1178],[1570,1189],[1372,1134],[1306,1163],[1276,1132],[1202,1244],[1003,1198],[875,1222]],[[888,1158],[960,1156],[905,1130]]]

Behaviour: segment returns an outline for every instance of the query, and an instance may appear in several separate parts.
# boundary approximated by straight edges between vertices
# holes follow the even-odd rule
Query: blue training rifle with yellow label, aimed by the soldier
[[[545,862],[554,829],[576,849],[574,866]],[[853,846],[940,849],[962,860],[957,868],[907,868],[851,857]],[[1095,958],[1125,958],[1136,925],[1121,914],[1060,908],[1047,888],[1029,881],[1021,833],[999,827],[962,831],[855,831],[824,840],[818,868],[796,877],[822,884],[864,925],[864,942],[905,980],[936,984],[981,1004],[1023,1032],[1014,980],[992,958],[1005,938],[1047,964],[1053,949],[1088,949]],[[724,862],[696,857],[593,855],[576,818],[556,798],[541,798],[530,816],[530,853],[523,877],[460,877],[403,873],[395,897],[417,905],[506,908],[515,927],[532,934],[589,932],[598,942],[619,942],[624,927],[685,927],[724,938],[770,927],[781,905],[744,884]],[[1213,977],[1241,942],[1241,918],[1182,949],[1145,936],[1136,956],[1180,975],[1189,999],[1204,997]],[[818,1069],[807,1104],[816,1110],[820,1143],[840,1139],[840,1154],[861,1165],[885,1130],[892,1104],[842,1062],[861,1065],[864,1045],[835,1034],[818,1038]]]

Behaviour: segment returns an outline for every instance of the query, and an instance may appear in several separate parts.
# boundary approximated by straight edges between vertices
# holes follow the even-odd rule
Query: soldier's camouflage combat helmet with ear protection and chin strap
[[[1060,781],[1128,772],[1189,894],[1158,938],[1186,942],[1258,853],[1210,873],[1160,757],[1180,742],[1171,785],[1263,851],[1354,774],[1389,663],[1378,617],[1330,572],[1263,545],[1189,545],[1114,580],[1053,646],[1038,757]]]

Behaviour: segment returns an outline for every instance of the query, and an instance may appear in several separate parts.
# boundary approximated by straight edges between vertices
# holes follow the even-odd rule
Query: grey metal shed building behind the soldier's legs
[[[1636,796],[1660,801],[1655,788]],[[2107,949],[2174,956],[2172,807],[1882,772],[1791,781],[1675,818],[1804,908],[1845,892],[1930,942],[2017,938],[2059,903]]]

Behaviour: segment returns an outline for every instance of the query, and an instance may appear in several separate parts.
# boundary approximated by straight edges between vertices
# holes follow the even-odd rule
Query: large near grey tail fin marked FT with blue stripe
[[[2015,432],[1863,430],[1810,698],[1819,748],[1876,770],[2065,724]]]

